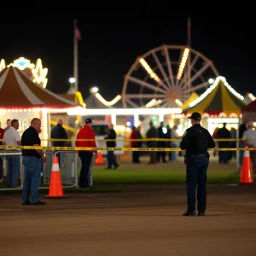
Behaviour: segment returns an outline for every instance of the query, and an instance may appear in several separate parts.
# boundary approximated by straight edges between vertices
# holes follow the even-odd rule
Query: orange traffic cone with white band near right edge
[[[247,148],[248,147],[246,146],[246,149]],[[243,154],[241,178],[239,184],[253,184],[253,170],[251,167],[249,150],[245,150]]]

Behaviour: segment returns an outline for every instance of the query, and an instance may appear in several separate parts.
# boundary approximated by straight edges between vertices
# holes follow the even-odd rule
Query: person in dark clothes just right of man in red
[[[108,125],[108,134],[105,135],[105,139],[107,140],[115,140],[116,139],[116,132],[113,130],[113,124]],[[115,141],[107,141],[107,148],[115,148],[116,142]],[[107,152],[108,158],[108,167],[106,169],[116,169],[119,167],[119,164],[116,162],[116,156],[113,154],[113,151]]]

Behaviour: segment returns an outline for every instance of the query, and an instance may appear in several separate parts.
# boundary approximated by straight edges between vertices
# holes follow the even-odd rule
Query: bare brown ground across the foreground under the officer
[[[185,187],[127,185],[21,206],[0,195],[2,255],[256,255],[256,186],[208,186],[206,217],[183,217]]]

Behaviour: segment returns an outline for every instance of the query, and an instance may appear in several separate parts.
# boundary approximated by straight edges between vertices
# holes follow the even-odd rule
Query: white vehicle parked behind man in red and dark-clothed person
[[[105,141],[105,134],[108,134],[108,123],[105,122],[95,122],[92,124],[93,131],[95,131],[96,137],[96,146],[99,148],[106,148],[107,144]],[[113,128],[114,129],[114,128]],[[116,137],[116,148],[124,148],[125,147],[125,137],[124,136],[117,136]],[[107,151],[101,151],[102,155],[107,155]],[[124,151],[114,151],[115,155],[122,155]]]

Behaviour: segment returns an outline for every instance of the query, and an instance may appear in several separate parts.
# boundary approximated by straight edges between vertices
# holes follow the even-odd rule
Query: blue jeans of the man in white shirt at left
[[[18,177],[20,174],[20,155],[8,154],[6,155],[7,160],[7,174],[6,184],[9,189],[17,188]]]

